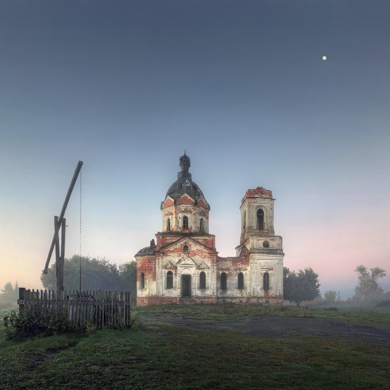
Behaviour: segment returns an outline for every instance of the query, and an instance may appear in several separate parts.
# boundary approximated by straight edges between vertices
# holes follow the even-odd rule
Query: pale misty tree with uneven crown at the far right
[[[377,280],[386,276],[386,270],[375,267],[370,268],[370,272],[364,265],[356,267],[359,284],[355,287],[355,298],[359,303],[368,304],[379,301],[383,295],[383,289],[379,287]]]

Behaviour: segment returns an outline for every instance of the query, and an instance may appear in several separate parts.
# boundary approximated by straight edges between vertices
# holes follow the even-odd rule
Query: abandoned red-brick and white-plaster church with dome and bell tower
[[[283,303],[282,237],[273,230],[272,191],[257,187],[241,200],[235,257],[219,257],[209,211],[189,173],[190,158],[161,203],[162,229],[137,260],[137,305]]]

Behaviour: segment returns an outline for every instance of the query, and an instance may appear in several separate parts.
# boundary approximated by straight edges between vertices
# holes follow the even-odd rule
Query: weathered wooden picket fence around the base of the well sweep
[[[131,292],[75,291],[57,294],[54,290],[19,288],[19,312],[66,312],[69,320],[97,326],[131,326]]]

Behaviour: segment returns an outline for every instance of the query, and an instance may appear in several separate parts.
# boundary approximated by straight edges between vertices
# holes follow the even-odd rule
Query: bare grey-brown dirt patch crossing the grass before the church
[[[229,329],[249,336],[275,336],[289,338],[293,335],[315,335],[364,341],[367,344],[390,349],[390,331],[369,326],[348,324],[328,318],[287,318],[258,316],[228,321],[202,322],[178,316],[145,314],[140,318],[145,323],[164,322],[183,325],[191,329]]]

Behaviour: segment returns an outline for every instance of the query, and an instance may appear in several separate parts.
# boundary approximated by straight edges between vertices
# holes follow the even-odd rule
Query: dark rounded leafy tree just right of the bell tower
[[[299,306],[302,301],[311,301],[320,294],[318,274],[312,268],[305,268],[304,271],[290,271],[283,268],[283,296],[290,302]]]

